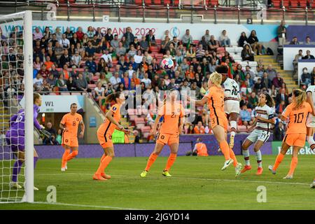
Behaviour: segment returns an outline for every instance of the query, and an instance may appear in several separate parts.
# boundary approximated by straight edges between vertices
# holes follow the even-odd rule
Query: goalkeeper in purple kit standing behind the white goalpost
[[[41,106],[41,95],[34,93],[34,126],[36,129],[44,134],[46,137],[50,138],[49,132],[45,131],[41,125],[39,125],[37,116],[39,112],[39,107]],[[33,133],[29,133],[33,134]],[[11,188],[20,189],[22,186],[18,184],[18,174],[25,161],[25,110],[21,109],[18,114],[15,114],[10,118],[10,129],[6,132],[6,142],[10,146],[11,152],[18,159],[13,165],[13,175],[12,182],[10,183]],[[38,155],[34,148],[34,168],[36,167],[36,162],[38,160]],[[38,188],[34,187],[34,190]]]

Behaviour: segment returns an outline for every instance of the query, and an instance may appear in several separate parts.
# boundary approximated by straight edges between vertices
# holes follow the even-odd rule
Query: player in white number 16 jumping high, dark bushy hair
[[[222,74],[222,85],[224,86],[224,112],[230,119],[231,134],[230,148],[234,147],[234,138],[237,132],[237,118],[239,117],[239,84],[232,78],[228,77],[228,67],[219,65],[216,71]]]

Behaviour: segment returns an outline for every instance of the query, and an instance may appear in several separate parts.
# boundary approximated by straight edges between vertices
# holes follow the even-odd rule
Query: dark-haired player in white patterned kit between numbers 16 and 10
[[[251,134],[246,138],[244,143],[241,145],[241,150],[244,155],[245,167],[241,170],[244,173],[251,170],[251,164],[249,162],[249,151],[248,147],[251,144],[254,145],[254,151],[256,154],[256,160],[258,163],[258,170],[256,175],[262,174],[262,156],[260,148],[270,137],[272,132],[272,124],[274,124],[274,100],[266,92],[259,95],[258,106],[255,107],[255,121],[251,127],[248,128],[248,132]]]

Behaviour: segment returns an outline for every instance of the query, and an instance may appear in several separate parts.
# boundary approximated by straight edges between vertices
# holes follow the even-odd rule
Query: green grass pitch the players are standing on
[[[242,156],[237,156],[244,163]],[[167,158],[158,158],[145,179],[139,174],[147,158],[115,158],[107,168],[109,181],[93,181],[99,159],[74,159],[60,172],[60,160],[38,160],[36,202],[47,202],[48,186],[57,189],[57,204],[0,204],[0,209],[315,209],[315,156],[300,155],[293,180],[283,180],[290,167],[287,155],[276,175],[269,173],[275,156],[263,155],[264,173],[253,169],[235,178],[234,167],[224,172],[223,156],[178,157],[172,178],[162,176]],[[267,202],[258,203],[258,186],[267,189]]]

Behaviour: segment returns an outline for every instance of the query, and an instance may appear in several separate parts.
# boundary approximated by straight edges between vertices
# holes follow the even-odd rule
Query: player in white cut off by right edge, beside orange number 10
[[[315,104],[315,85],[309,85],[307,88],[307,102],[311,105],[314,110]],[[311,150],[315,152],[315,141],[314,141],[314,127],[315,127],[315,116],[309,114],[307,117],[307,142]],[[315,179],[311,183],[311,188],[315,188]]]

